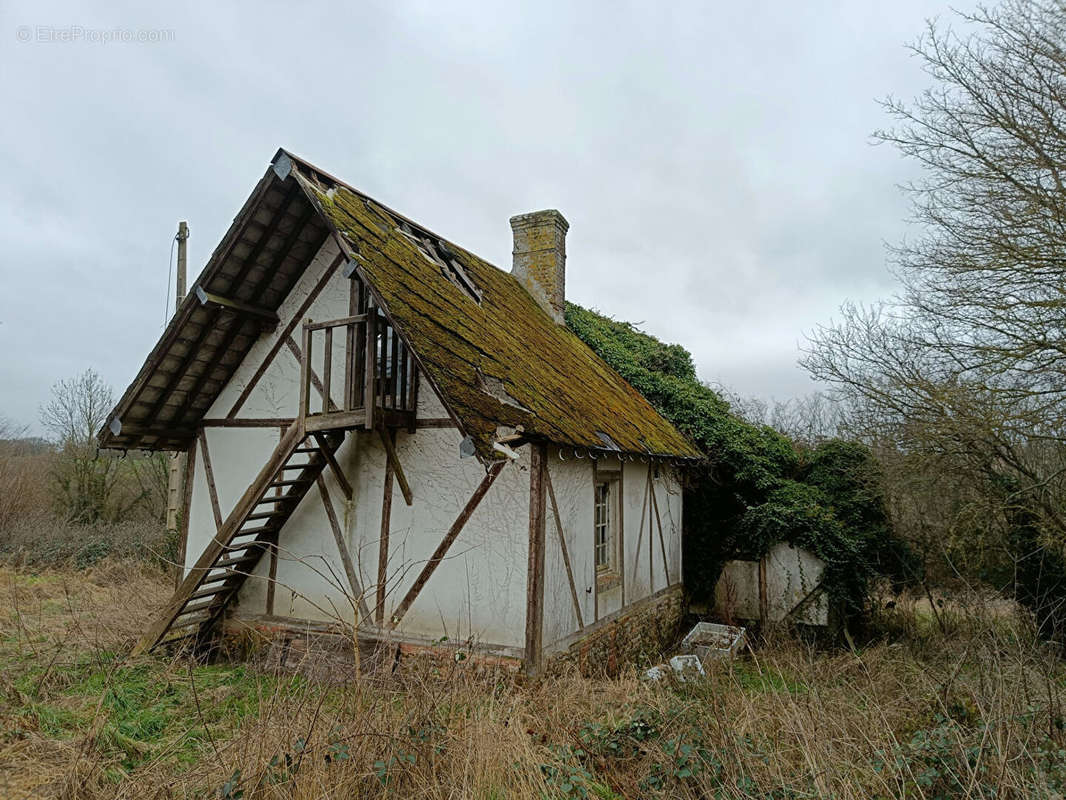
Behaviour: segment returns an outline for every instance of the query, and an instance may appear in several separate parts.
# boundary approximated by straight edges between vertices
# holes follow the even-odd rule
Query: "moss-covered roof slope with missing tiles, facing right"
[[[288,156],[288,154],[286,154]],[[532,439],[674,458],[699,451],[521,284],[295,157],[296,178],[346,245],[482,458],[500,426]],[[401,228],[406,227],[407,234]],[[480,300],[410,237],[454,259]]]

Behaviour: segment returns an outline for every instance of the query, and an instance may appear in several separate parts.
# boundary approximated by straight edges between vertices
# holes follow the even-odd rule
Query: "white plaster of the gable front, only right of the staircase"
[[[420,415],[437,402],[429,384],[419,387]],[[485,476],[472,458],[459,458],[456,429],[419,429],[397,434],[397,454],[410,484],[413,503],[393,483],[386,570],[385,619],[441,542]],[[503,468],[467,521],[447,557],[417,596],[398,631],[419,637],[474,640],[521,647],[524,642],[529,455]],[[327,487],[342,519],[345,544],[356,563],[367,605],[375,606],[381,542],[385,449],[378,434],[350,433],[338,462],[353,487],[346,501],[332,474]],[[241,592],[242,613],[263,613],[268,561]],[[318,492],[309,493],[279,539],[274,612],[319,621],[355,619],[345,597],[346,579]]]

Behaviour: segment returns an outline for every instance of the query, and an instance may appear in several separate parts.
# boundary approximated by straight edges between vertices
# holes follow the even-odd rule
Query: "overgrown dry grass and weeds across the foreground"
[[[0,797],[1061,797],[1066,669],[1015,615],[765,643],[706,679],[468,663],[342,686],[123,655],[169,592],[129,562],[0,569]]]

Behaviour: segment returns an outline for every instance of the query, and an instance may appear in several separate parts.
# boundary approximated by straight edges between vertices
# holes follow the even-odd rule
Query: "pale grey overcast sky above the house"
[[[904,44],[950,14],[95,5],[0,2],[0,416],[34,431],[61,378],[125,389],[162,331],[178,220],[191,285],[279,146],[504,269],[508,217],[559,208],[568,299],[742,395],[811,391],[805,332],[893,290],[914,167],[871,145],[876,99],[927,85]]]

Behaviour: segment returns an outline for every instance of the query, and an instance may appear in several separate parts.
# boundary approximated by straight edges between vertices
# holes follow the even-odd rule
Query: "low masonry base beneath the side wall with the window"
[[[659,663],[680,637],[684,592],[680,583],[599,620],[549,653],[546,672],[576,665],[582,675],[616,675],[626,665]]]

